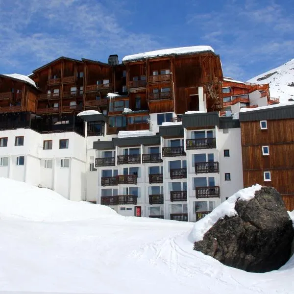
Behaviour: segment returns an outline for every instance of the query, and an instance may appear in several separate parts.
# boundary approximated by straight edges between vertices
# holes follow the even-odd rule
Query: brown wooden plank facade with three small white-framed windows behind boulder
[[[276,111],[279,111],[278,109]],[[294,210],[294,118],[241,121],[244,187],[256,183],[278,190],[288,210]],[[269,154],[263,155],[263,147]],[[264,172],[270,172],[265,180]]]

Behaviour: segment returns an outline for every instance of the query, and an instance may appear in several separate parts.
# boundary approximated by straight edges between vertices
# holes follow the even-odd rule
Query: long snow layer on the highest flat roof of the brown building
[[[171,49],[161,49],[150,52],[138,53],[133,55],[127,55],[123,57],[123,61],[136,60],[142,58],[151,58],[164,55],[181,55],[189,53],[198,53],[204,51],[212,51],[214,49],[210,46],[191,46],[191,47],[180,47],[180,48],[171,48]]]

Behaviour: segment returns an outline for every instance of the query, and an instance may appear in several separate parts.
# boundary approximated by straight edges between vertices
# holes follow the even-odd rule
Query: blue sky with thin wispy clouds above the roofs
[[[293,0],[0,0],[0,73],[210,45],[247,80],[294,58]]]

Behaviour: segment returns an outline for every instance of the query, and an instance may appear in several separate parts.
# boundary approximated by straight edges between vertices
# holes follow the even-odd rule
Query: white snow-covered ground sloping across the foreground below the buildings
[[[193,223],[117,215],[0,178],[0,291],[293,294],[294,257],[247,273],[193,250]]]

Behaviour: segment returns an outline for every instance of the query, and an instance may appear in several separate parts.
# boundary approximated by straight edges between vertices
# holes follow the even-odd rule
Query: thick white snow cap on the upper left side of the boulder
[[[189,240],[191,242],[197,242],[203,240],[204,234],[220,219],[224,216],[233,217],[237,215],[235,210],[235,203],[238,199],[248,201],[255,196],[255,192],[262,188],[261,185],[256,184],[255,186],[241,189],[236,192],[233,196],[222,202],[216,207],[210,214],[205,216],[203,219],[197,221],[194,228],[189,234]]]

